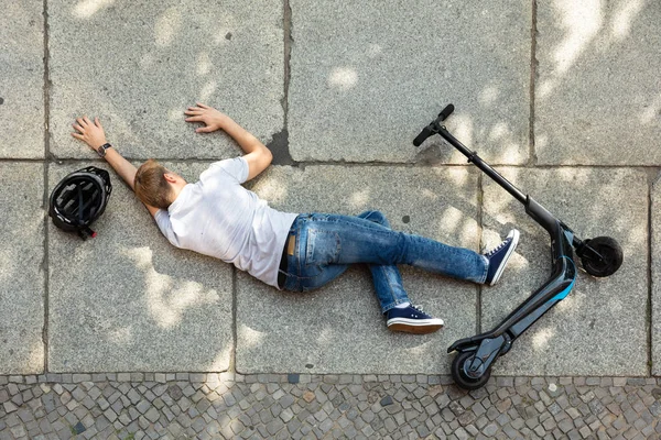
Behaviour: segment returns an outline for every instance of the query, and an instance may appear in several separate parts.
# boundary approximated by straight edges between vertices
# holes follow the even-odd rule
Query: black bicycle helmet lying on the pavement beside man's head
[[[88,166],[63,178],[51,193],[48,216],[63,231],[86,240],[96,237],[89,226],[106,210],[112,193],[107,170]]]

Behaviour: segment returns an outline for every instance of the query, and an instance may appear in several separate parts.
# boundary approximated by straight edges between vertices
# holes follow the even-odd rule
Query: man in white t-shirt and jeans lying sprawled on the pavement
[[[107,143],[98,118],[78,118],[72,135],[108,161],[172,244],[232,263],[279,289],[308,292],[350,264],[366,263],[388,328],[430,333],[443,327],[443,320],[411,305],[397,264],[494,285],[517,246],[516,229],[497,248],[478,254],[393,231],[379,211],[350,217],[274,210],[241,186],[271,164],[269,148],[212,107],[197,103],[185,114],[187,122],[204,123],[197,133],[224,130],[246,154],[212,164],[197,183],[188,184],[152,160],[136,168]]]

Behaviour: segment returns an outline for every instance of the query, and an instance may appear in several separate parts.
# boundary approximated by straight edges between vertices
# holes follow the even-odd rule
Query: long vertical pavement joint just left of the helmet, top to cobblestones
[[[51,53],[48,50],[48,0],[43,1],[43,21],[44,21],[44,161],[42,166],[44,167],[44,196],[43,196],[43,208],[47,212],[48,209],[48,163],[46,162],[51,155],[51,133],[50,133],[50,118],[51,118],[51,72],[50,72],[50,57]],[[50,274],[48,274],[48,216],[44,215],[44,260],[42,270],[44,271],[44,324],[42,327],[42,342],[44,351],[44,371],[48,370],[48,295],[50,295]]]

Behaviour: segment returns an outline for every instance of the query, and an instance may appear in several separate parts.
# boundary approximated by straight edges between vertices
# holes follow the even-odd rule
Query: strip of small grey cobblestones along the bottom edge
[[[661,378],[0,376],[1,439],[659,439]]]

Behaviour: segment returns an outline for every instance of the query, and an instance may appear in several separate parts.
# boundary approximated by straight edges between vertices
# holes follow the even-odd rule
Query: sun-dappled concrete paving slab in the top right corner
[[[661,164],[661,3],[540,2],[539,163]]]

